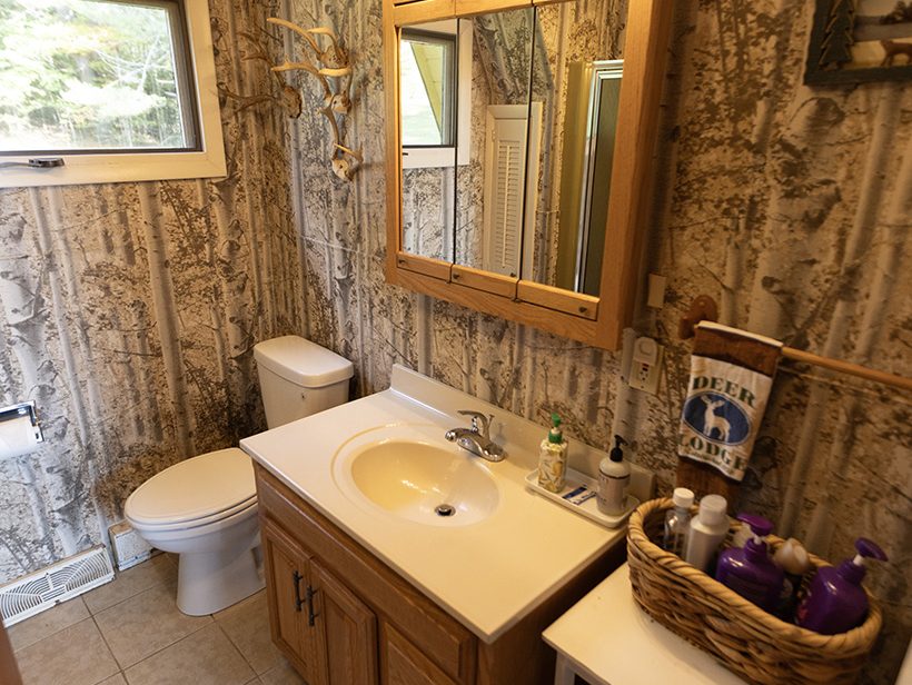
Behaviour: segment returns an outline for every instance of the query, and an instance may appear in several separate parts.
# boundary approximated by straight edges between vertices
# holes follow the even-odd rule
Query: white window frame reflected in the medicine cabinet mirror
[[[472,152],[472,22],[445,19],[429,21],[409,27],[434,33],[456,36],[457,75],[456,75],[456,145],[436,147],[403,148],[403,169],[437,169],[453,167],[454,153],[456,163],[468,163]]]

